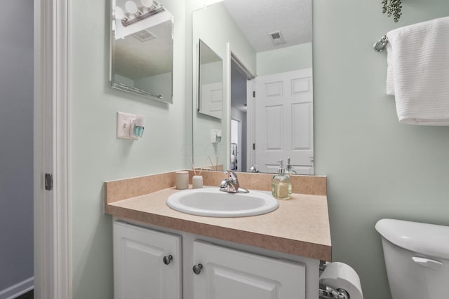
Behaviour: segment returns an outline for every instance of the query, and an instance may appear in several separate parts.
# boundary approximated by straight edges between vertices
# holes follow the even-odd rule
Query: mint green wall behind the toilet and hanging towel
[[[398,123],[385,95],[389,30],[449,15],[447,0],[402,1],[398,23],[381,0],[314,0],[316,174],[328,175],[333,259],[352,265],[366,299],[390,298],[380,218],[449,225],[449,127]]]

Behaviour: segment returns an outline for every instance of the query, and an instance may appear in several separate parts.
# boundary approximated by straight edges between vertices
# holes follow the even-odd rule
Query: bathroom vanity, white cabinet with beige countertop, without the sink
[[[115,298],[318,298],[320,260],[331,260],[326,193],[293,193],[259,216],[213,218],[170,209],[173,187],[119,199],[138,186],[132,180],[105,183]]]

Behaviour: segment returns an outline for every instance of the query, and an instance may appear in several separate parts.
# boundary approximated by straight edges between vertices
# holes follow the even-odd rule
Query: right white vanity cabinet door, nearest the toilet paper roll
[[[304,299],[305,266],[194,242],[195,299]],[[193,266],[193,265],[192,265]]]

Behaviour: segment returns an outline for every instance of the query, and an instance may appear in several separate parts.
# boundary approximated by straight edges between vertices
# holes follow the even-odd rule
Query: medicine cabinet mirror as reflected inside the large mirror
[[[206,43],[199,41],[199,113],[222,118],[223,60]]]

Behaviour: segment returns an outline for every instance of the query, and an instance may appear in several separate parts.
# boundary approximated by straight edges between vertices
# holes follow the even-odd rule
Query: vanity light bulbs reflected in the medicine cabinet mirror
[[[135,22],[139,22],[145,18],[156,15],[156,13],[161,13],[165,9],[159,4],[159,2],[154,0],[141,0],[142,6],[138,7],[133,0],[128,0],[125,3],[125,11],[119,6],[115,7],[115,19],[121,20],[121,24],[126,27]]]

